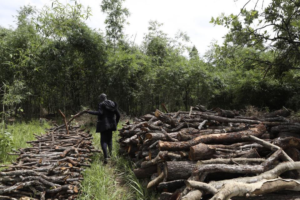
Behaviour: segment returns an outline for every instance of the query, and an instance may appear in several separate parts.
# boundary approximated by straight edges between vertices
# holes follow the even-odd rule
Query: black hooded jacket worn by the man
[[[107,130],[117,130],[117,125],[120,120],[120,112],[116,102],[105,100],[98,103],[98,111],[88,111],[88,113],[92,115],[98,115],[96,133]]]

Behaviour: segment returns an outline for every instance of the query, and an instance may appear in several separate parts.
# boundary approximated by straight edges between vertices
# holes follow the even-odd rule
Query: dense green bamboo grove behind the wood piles
[[[260,51],[260,60],[240,64],[239,58],[257,53],[259,47],[240,45],[232,51],[230,41],[221,46],[212,42],[200,57],[195,46],[184,45],[190,42],[186,33],[170,37],[157,21],[149,22],[144,41],[136,44],[123,34],[130,13],[122,2],[103,1],[106,32],[87,25],[91,8],[59,1],[42,9],[21,7],[15,27],[0,27],[2,119],[94,108],[101,93],[118,102],[127,115],[153,111],[161,103],[170,112],[198,104],[300,108],[299,69],[270,68],[262,62],[280,62],[274,49]],[[119,12],[109,3],[117,3]],[[118,26],[109,26],[117,19],[112,13],[118,15]],[[217,20],[214,23],[223,23]],[[292,31],[299,33],[297,28]]]

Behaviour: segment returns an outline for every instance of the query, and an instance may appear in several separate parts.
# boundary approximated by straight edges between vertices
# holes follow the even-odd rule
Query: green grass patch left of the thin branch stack
[[[34,140],[34,134],[44,133],[45,128],[49,128],[47,123],[41,124],[38,120],[30,122],[15,123],[8,125],[7,131],[12,134],[12,144],[9,147],[0,148],[0,163],[9,164],[16,160],[17,156],[8,155],[12,149],[29,147],[26,141]]]

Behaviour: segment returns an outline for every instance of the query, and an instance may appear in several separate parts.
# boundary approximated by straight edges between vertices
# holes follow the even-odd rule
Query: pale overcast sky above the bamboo
[[[31,4],[38,9],[42,8],[49,0],[0,0],[0,26],[15,26],[16,10],[22,5]],[[66,2],[61,0],[60,2]],[[69,2],[69,1],[68,1]],[[101,0],[81,0],[85,7],[92,8],[93,16],[87,20],[90,27],[105,30],[105,15],[101,12]],[[247,1],[245,0],[127,0],[123,5],[129,9],[131,16],[128,18],[129,26],[126,26],[125,34],[134,37],[135,42],[140,44],[143,40],[143,33],[147,32],[148,21],[158,20],[164,23],[162,30],[169,37],[173,37],[178,29],[187,32],[190,36],[191,44],[195,45],[201,55],[208,49],[212,40],[222,43],[222,37],[228,29],[222,26],[213,26],[209,23],[211,17],[217,17],[222,12],[225,14],[237,14],[240,8]],[[256,2],[256,1],[255,1]],[[255,3],[250,2],[249,8]],[[265,5],[266,2],[264,1]]]

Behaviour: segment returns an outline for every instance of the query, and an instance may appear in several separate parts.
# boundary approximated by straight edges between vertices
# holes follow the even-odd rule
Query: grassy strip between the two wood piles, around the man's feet
[[[121,123],[119,123],[121,124]],[[121,128],[121,127],[118,127]],[[101,149],[100,134],[93,128],[93,145]],[[132,172],[132,162],[119,155],[119,145],[116,142],[118,132],[113,133],[113,151],[107,165],[103,165],[103,154],[94,155],[91,168],[84,172],[82,182],[83,193],[79,200],[156,200],[157,194],[149,191],[139,182]]]

